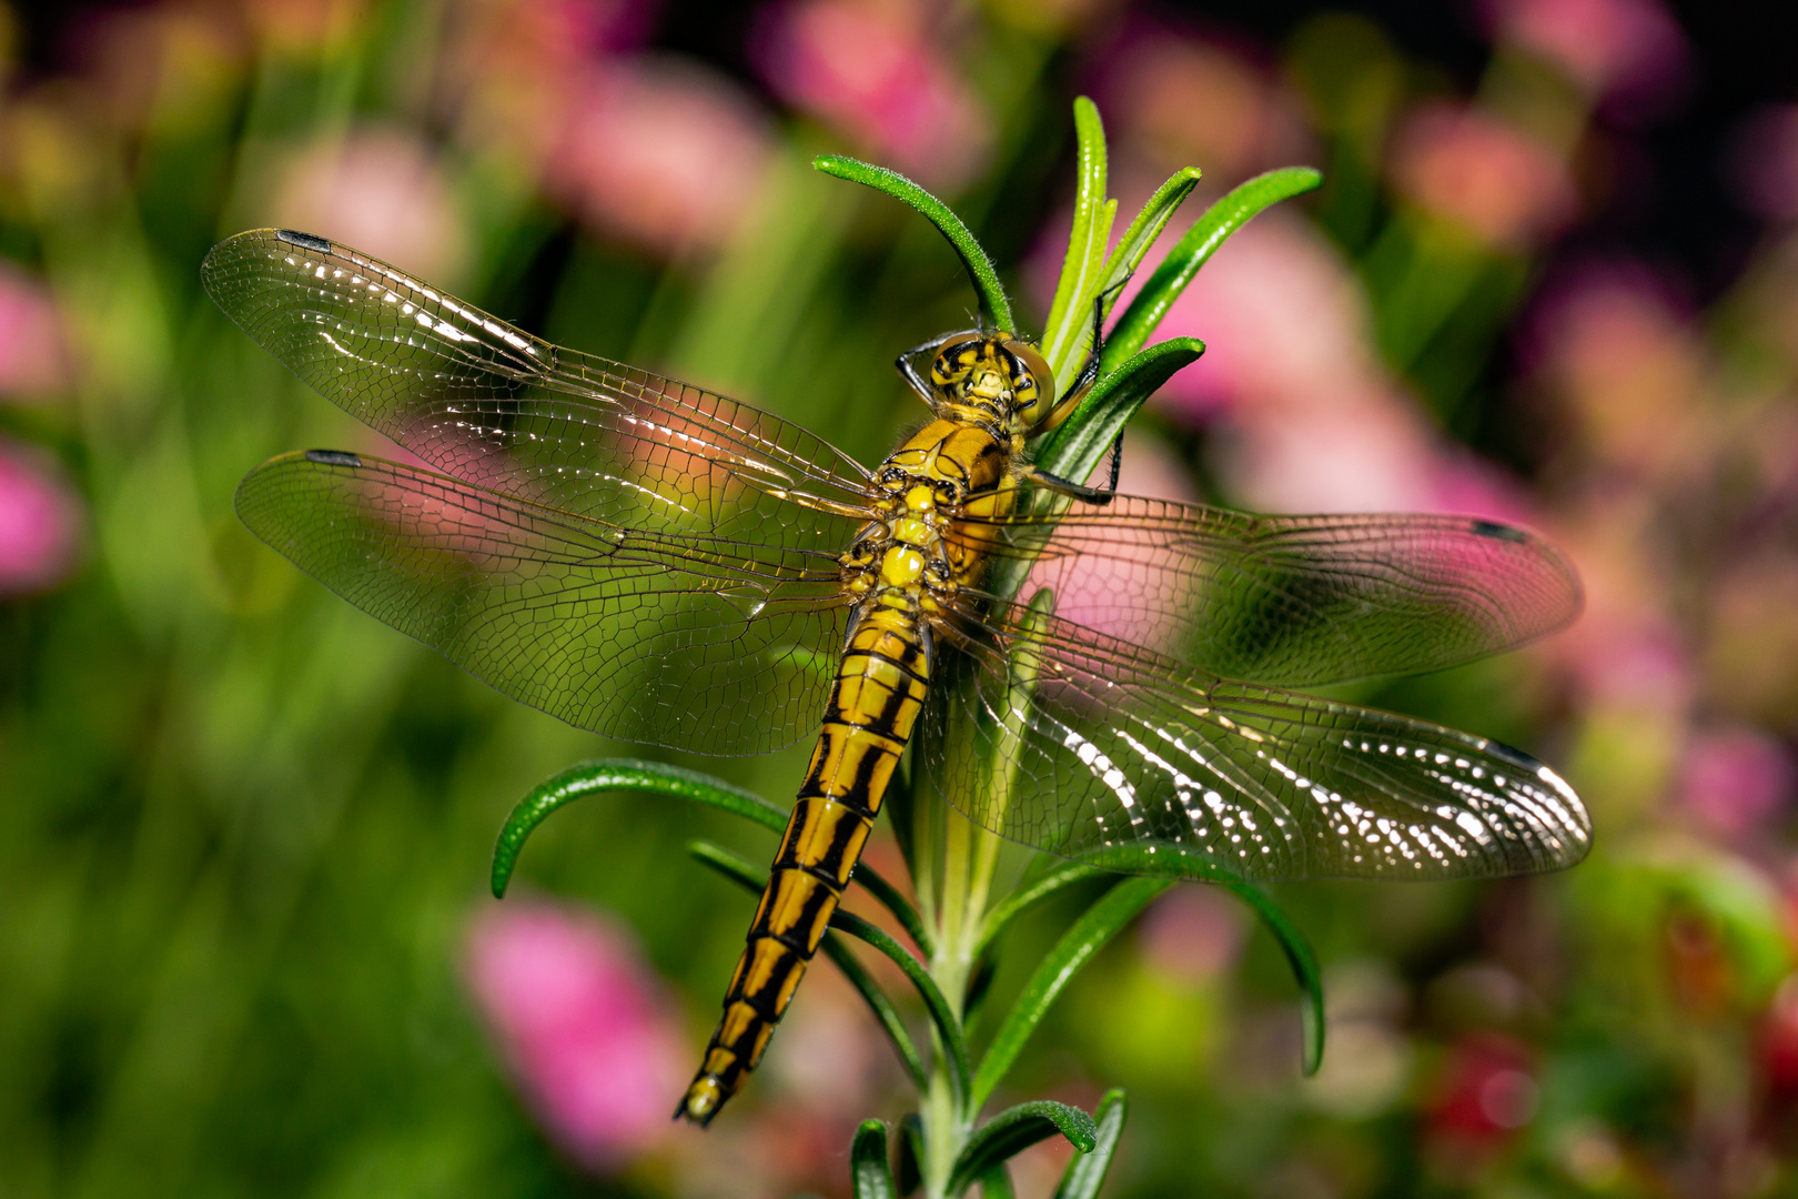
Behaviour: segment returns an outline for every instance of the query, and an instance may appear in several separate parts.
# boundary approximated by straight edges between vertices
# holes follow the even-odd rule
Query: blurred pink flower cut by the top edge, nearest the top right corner
[[[1652,104],[1687,72],[1687,40],[1658,0],[1491,0],[1494,34],[1537,54],[1591,95]]]

